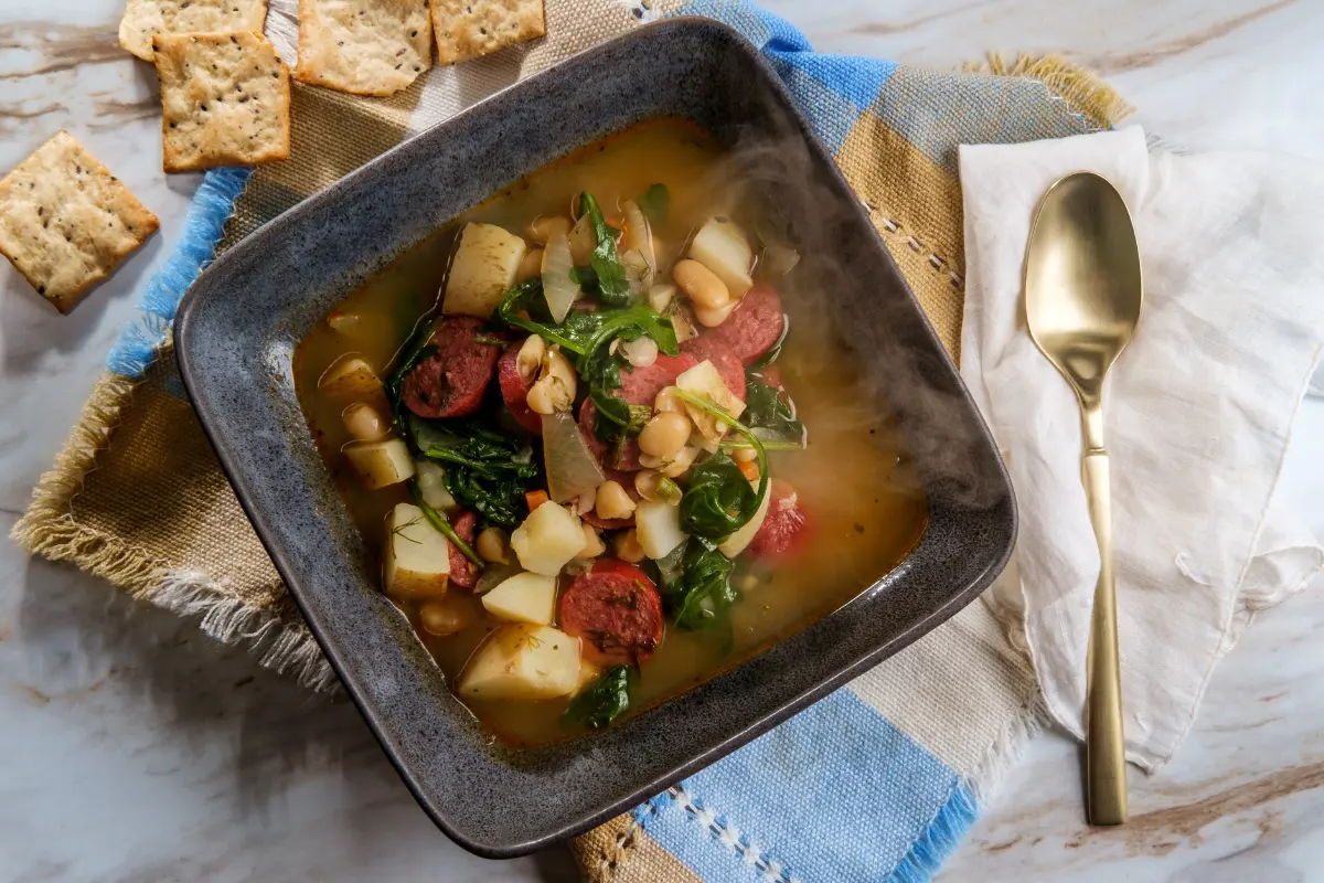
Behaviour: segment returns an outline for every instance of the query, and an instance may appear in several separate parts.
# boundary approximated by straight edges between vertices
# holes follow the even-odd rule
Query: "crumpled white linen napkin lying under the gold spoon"
[[[1087,169],[1131,208],[1145,301],[1104,392],[1127,757],[1166,763],[1217,659],[1324,549],[1275,487],[1324,347],[1324,173],[1283,155],[1151,154],[1139,127],[961,147],[961,375],[1016,487],[1016,555],[985,596],[1022,639],[1053,718],[1082,737],[1099,552],[1074,395],[1025,326],[1030,218]]]

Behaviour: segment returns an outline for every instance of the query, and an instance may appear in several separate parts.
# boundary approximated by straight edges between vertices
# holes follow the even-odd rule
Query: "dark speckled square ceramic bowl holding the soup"
[[[604,135],[677,115],[755,146],[740,162],[785,209],[789,241],[822,244],[806,269],[822,274],[835,334],[895,410],[928,524],[896,569],[763,654],[606,732],[515,752],[448,692],[377,590],[295,400],[291,353],[346,294],[489,195]],[[422,808],[487,857],[581,833],[896,653],[973,600],[1016,535],[988,432],[867,216],[775,73],[707,20],[643,26],[576,56],[286,212],[199,278],[176,340],[221,465],[331,665]]]

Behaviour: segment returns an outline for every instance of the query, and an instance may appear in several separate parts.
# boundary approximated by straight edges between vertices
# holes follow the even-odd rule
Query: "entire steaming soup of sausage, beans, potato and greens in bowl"
[[[737,167],[654,120],[507,188],[299,343],[318,449],[502,740],[612,725],[895,567],[925,506]]]

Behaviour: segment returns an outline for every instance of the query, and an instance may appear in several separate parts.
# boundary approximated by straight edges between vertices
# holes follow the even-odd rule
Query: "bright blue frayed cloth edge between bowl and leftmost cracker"
[[[193,203],[184,216],[184,232],[175,250],[162,265],[143,294],[138,307],[143,315],[128,324],[106,357],[106,369],[123,377],[140,379],[169,331],[179,302],[193,279],[216,256],[216,244],[225,232],[225,221],[234,210],[234,200],[244,192],[250,168],[217,168],[203,177]]]

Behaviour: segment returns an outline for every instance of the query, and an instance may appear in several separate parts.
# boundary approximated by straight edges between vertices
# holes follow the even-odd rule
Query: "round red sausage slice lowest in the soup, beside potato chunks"
[[[601,559],[561,594],[559,624],[591,662],[636,665],[662,642],[662,597],[639,568]]]

